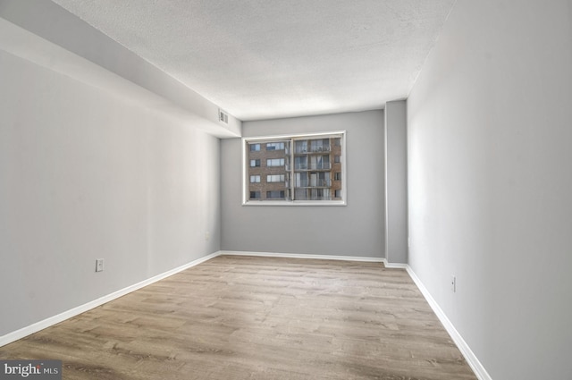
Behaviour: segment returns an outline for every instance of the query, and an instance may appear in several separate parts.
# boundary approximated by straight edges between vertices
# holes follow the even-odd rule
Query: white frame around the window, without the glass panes
[[[249,173],[248,173],[248,144],[252,143],[271,143],[275,140],[280,139],[291,139],[292,143],[290,145],[290,154],[292,158],[290,159],[290,166],[293,166],[293,151],[295,149],[295,140],[297,139],[330,139],[335,137],[341,137],[341,200],[248,200],[248,183],[249,183]],[[275,135],[275,136],[257,136],[250,138],[242,138],[242,205],[243,206],[347,206],[348,205],[348,182],[346,175],[346,165],[348,162],[347,152],[347,133],[346,131],[324,131],[324,132],[314,132],[314,133],[297,133],[297,134],[287,134],[287,135]],[[293,172],[292,172],[293,173]],[[331,190],[332,193],[334,190]]]

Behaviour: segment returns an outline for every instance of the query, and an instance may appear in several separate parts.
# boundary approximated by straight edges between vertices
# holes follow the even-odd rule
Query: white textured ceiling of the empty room
[[[405,98],[455,0],[53,0],[243,121]]]

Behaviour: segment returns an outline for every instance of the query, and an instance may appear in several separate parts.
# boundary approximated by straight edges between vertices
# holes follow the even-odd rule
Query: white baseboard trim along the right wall
[[[457,344],[458,350],[461,351],[461,353],[467,360],[469,367],[471,367],[471,369],[473,369],[473,372],[475,372],[475,376],[478,377],[479,380],[492,380],[492,377],[488,374],[486,369],[484,369],[483,364],[481,364],[479,359],[476,358],[475,353],[468,346],[467,342],[465,342],[461,334],[458,334],[458,331],[455,328],[455,326],[450,322],[450,319],[443,312],[442,308],[439,306],[437,301],[433,299],[431,293],[427,291],[427,288],[425,288],[425,285],[421,282],[419,277],[417,277],[415,272],[413,272],[411,266],[406,265],[406,269],[413,282],[417,285],[419,291],[421,291],[421,293],[425,297],[425,300],[427,300],[427,303],[429,303],[429,306],[433,308],[433,312],[435,313],[435,315],[437,315],[442,325],[445,327],[445,330],[447,330],[447,333],[450,334],[450,337],[453,340],[453,342]]]

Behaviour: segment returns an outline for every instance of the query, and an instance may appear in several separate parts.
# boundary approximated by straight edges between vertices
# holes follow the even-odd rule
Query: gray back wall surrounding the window
[[[348,206],[241,206],[241,140],[224,139],[222,248],[383,258],[383,111],[244,122],[245,137],[346,130]]]

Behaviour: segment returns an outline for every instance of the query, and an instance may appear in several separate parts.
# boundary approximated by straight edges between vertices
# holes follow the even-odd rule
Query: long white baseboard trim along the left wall
[[[172,274],[177,274],[185,269],[188,269],[189,267],[192,266],[198,266],[198,264],[201,264],[203,262],[205,262],[206,260],[209,260],[211,258],[215,258],[217,256],[220,255],[220,251],[214,252],[210,255],[207,255],[203,258],[198,258],[196,260],[193,260],[183,266],[178,266],[176,268],[173,268],[169,271],[166,271],[162,274],[157,274],[153,277],[148,278],[147,280],[143,280],[140,283],[135,283],[133,285],[127,286],[126,288],[123,288],[119,291],[114,291],[113,293],[107,294],[103,297],[98,298],[97,300],[92,300],[89,301],[88,303],[85,303],[83,305],[80,305],[76,308],[71,308],[67,311],[64,311],[63,313],[60,313],[58,315],[55,315],[54,317],[47,317],[44,320],[41,320],[35,324],[32,325],[28,325],[26,327],[22,327],[19,330],[13,331],[12,333],[8,333],[5,335],[0,336],[0,347],[8,344],[8,343],[12,343],[15,342],[21,338],[24,338],[28,335],[34,334],[34,333],[38,333],[38,331],[40,330],[44,330],[46,327],[52,326],[52,325],[56,325],[59,324],[60,322],[63,322],[66,319],[69,319],[71,317],[75,317],[77,315],[80,315],[81,313],[84,313],[92,308],[97,308],[98,306],[101,306],[111,300],[115,300],[118,299],[122,296],[124,296],[125,294],[129,294],[131,291],[137,291],[147,285],[150,285],[151,283],[156,283],[157,281],[163,280],[166,277],[169,277]]]

